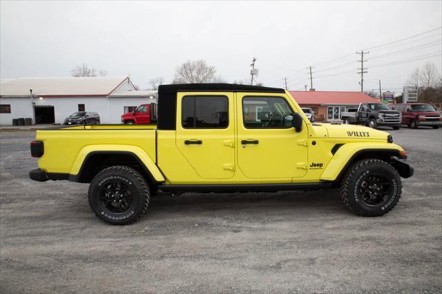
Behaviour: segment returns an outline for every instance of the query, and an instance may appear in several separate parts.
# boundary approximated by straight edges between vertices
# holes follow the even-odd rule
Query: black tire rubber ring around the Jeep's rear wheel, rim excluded
[[[94,180],[101,173],[112,171],[112,170],[115,170],[116,172],[124,172],[124,173],[129,173],[129,174],[133,175],[138,181],[140,181],[140,184],[143,187],[143,195],[141,195],[141,199],[140,199],[140,201],[142,202],[142,209],[141,209],[140,213],[137,216],[128,218],[126,220],[126,222],[116,223],[116,222],[109,221],[106,217],[103,217],[101,214],[99,214],[97,211],[95,211],[93,209],[93,199],[90,196],[90,192],[91,192],[91,190],[93,188],[93,184],[95,184]],[[99,173],[97,173],[97,175],[94,177],[92,182],[90,182],[90,186],[89,186],[89,189],[88,189],[88,199],[89,199],[89,206],[93,210],[95,215],[99,219],[102,219],[102,221],[104,221],[104,222],[106,222],[108,224],[113,224],[113,225],[132,224],[137,219],[140,219],[140,217],[142,217],[142,215],[144,215],[144,213],[146,213],[146,210],[147,210],[147,207],[149,205],[149,202],[151,201],[151,197],[150,197],[150,193],[149,193],[149,188],[148,188],[148,184],[146,182],[146,179],[144,179],[144,177],[140,173],[138,173],[137,170],[135,170],[135,169],[133,169],[133,168],[131,168],[129,166],[110,166],[108,168],[104,168],[104,170],[101,170]]]

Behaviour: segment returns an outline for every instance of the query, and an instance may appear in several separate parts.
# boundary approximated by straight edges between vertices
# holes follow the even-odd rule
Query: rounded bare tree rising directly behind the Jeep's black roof
[[[218,83],[220,77],[215,77],[215,66],[207,65],[204,60],[186,61],[175,71],[173,84]]]

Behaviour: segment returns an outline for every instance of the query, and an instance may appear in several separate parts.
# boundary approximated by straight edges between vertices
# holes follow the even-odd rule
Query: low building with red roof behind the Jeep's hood
[[[289,91],[302,108],[311,108],[315,121],[340,121],[341,112],[357,108],[363,102],[376,103],[363,92],[339,91]]]

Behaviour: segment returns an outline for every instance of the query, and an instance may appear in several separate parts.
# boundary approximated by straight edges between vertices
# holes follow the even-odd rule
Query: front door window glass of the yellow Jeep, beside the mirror
[[[291,128],[293,110],[282,97],[244,97],[242,117],[246,128]]]

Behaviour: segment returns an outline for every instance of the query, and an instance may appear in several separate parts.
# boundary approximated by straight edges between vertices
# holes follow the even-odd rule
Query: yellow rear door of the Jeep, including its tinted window
[[[178,93],[176,146],[204,179],[235,173],[233,93]]]

